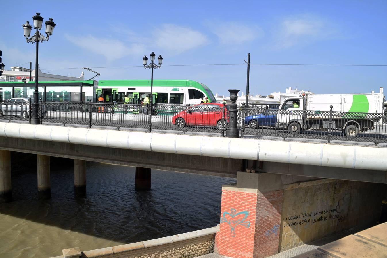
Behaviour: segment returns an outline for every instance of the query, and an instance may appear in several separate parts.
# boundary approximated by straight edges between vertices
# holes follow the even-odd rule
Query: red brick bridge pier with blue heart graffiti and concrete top
[[[238,172],[236,185],[223,185],[215,251],[233,258],[278,253],[283,185],[281,175]]]

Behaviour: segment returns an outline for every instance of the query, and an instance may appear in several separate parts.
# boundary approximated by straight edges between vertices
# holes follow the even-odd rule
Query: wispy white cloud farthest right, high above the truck
[[[328,20],[312,15],[290,17],[281,22],[276,30],[276,48],[288,48],[299,44],[309,44],[317,40],[333,39],[338,30]]]

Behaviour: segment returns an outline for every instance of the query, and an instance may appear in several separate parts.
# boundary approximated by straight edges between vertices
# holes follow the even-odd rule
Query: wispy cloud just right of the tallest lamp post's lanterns
[[[73,44],[95,54],[102,55],[108,62],[129,55],[139,55],[145,51],[145,47],[139,43],[131,43],[127,46],[117,39],[101,39],[92,35],[74,37],[66,35],[67,40]]]

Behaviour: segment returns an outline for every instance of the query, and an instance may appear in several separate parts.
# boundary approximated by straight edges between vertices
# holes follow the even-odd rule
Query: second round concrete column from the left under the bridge
[[[38,196],[39,199],[50,199],[50,156],[36,155],[38,165]]]

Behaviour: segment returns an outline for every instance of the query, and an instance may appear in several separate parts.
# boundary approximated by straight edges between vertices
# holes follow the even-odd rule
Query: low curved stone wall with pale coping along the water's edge
[[[214,241],[217,227],[202,229],[175,236],[167,236],[127,245],[112,246],[90,251],[79,251],[82,258],[104,257],[104,258],[191,258],[214,252]],[[70,250],[70,252],[69,252]],[[79,248],[63,250],[61,256],[66,257]]]

